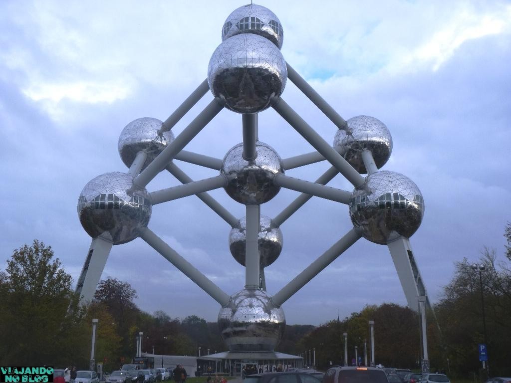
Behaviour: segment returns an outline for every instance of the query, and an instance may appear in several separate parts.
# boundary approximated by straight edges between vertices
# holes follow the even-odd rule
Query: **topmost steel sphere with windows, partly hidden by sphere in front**
[[[268,8],[248,4],[235,9],[225,20],[222,41],[241,33],[254,33],[282,48],[284,30],[281,21]]]

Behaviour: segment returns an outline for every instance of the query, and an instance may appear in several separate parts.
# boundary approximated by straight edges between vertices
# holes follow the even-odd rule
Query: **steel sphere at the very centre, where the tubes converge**
[[[273,183],[279,173],[284,174],[281,157],[264,142],[257,141],[257,158],[243,159],[243,143],[231,148],[225,155],[220,173],[227,177],[225,191],[229,197],[243,203],[261,204],[276,196],[281,189]]]

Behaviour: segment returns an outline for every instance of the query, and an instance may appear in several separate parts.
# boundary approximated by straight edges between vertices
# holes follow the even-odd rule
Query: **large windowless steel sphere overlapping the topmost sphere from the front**
[[[223,41],[211,56],[207,82],[225,107],[238,113],[257,113],[280,96],[287,81],[286,61],[268,39],[243,33]]]

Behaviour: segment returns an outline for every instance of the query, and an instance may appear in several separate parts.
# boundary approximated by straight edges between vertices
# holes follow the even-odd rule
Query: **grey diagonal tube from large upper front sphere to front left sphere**
[[[138,186],[146,185],[169,164],[204,127],[223,109],[220,100],[214,99],[202,112],[172,141],[158,156],[139,174],[134,183]]]

